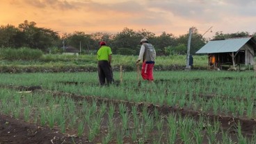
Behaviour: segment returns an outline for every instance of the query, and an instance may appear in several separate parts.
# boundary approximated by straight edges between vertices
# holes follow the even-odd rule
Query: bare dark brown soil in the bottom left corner
[[[24,120],[16,120],[10,116],[0,114],[0,143],[28,144],[28,143],[81,143],[81,138],[74,138],[67,134],[60,134],[54,129],[40,127]],[[83,141],[85,143],[86,141]]]

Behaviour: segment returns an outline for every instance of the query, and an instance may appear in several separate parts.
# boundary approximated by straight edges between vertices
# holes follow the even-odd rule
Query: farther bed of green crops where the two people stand
[[[117,77],[118,73],[115,74]],[[157,78],[163,80],[163,77],[165,81],[154,84],[143,82],[141,86],[133,76],[135,73],[124,73],[123,82],[110,87],[99,87],[97,73],[5,75],[6,77],[1,80],[3,84],[42,85],[44,89],[75,93],[81,96],[150,102],[154,105],[194,109],[222,116],[256,117],[254,101],[256,79],[253,77],[255,75],[253,72],[156,72],[156,81]],[[227,76],[229,79],[220,79],[227,78]],[[209,95],[214,96],[210,98]]]

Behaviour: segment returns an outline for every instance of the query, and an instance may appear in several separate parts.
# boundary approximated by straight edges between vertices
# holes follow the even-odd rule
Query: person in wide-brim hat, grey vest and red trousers
[[[141,69],[141,76],[143,80],[149,80],[150,82],[154,80],[153,70],[155,58],[156,51],[154,50],[154,46],[150,44],[147,39],[141,39],[141,50],[136,64],[138,66],[141,60],[143,62]]]

